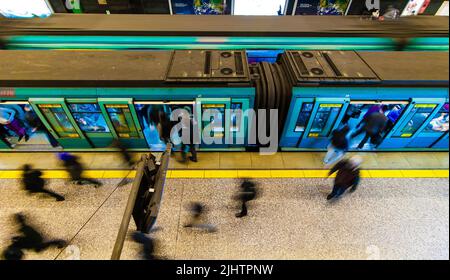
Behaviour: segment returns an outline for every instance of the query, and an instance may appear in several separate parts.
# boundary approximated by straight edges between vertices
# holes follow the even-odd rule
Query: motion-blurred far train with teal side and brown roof
[[[240,49],[255,61],[274,60],[284,50],[448,51],[449,43],[448,18],[429,16],[380,22],[357,16],[55,14],[0,18],[1,28],[9,49]]]

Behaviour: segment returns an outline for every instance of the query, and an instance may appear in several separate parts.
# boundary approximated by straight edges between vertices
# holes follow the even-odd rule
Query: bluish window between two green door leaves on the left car
[[[100,107],[94,103],[70,104],[70,111],[84,132],[110,132]]]

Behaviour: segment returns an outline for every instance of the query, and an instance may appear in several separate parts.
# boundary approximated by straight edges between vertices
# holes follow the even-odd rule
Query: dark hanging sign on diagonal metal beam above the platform
[[[111,260],[119,260],[127,237],[131,217],[136,230],[149,233],[156,223],[161,205],[172,145],[167,144],[157,165],[152,154],[143,155],[136,167],[136,176],[128,197]]]

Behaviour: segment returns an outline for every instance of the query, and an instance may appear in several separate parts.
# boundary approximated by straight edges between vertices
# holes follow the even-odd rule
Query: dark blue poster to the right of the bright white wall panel
[[[344,15],[349,0],[299,0],[296,15]]]

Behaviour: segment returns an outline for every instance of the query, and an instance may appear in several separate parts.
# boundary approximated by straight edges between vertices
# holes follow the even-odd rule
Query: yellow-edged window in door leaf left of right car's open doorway
[[[309,136],[328,137],[334,124],[336,123],[341,109],[342,104],[320,104]]]

